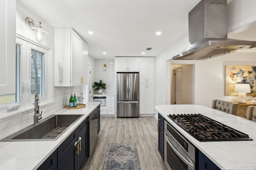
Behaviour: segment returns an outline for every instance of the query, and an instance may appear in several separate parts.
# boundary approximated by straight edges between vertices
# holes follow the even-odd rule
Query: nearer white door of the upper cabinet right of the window
[[[80,51],[81,38],[71,29],[71,86],[81,85],[80,76]]]

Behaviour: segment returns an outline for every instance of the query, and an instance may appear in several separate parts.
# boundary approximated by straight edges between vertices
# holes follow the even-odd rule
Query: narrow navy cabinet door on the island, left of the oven
[[[164,160],[164,117],[158,113],[158,151]]]

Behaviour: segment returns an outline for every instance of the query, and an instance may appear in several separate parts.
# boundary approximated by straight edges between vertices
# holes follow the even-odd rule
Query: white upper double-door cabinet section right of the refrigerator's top
[[[140,57],[140,83],[154,83],[154,57]]]

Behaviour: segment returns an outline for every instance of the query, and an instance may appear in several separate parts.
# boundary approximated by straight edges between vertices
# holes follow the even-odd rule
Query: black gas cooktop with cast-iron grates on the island
[[[201,114],[168,115],[198,141],[252,141],[245,133]]]

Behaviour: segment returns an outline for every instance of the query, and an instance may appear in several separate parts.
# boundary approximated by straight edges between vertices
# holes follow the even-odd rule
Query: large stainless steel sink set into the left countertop
[[[82,115],[50,115],[38,124],[24,127],[0,141],[56,141],[81,117]]]

